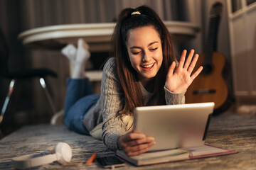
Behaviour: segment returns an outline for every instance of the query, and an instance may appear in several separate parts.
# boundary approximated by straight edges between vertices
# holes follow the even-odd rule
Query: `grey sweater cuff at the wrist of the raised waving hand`
[[[183,91],[180,94],[174,94],[164,86],[164,93],[165,93],[166,105],[185,104],[186,91]]]

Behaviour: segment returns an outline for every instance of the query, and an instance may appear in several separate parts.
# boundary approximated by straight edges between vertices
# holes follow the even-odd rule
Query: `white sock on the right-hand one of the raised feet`
[[[73,79],[85,77],[85,64],[90,58],[90,51],[88,49],[87,43],[82,38],[78,39],[78,49],[76,50],[74,69],[71,75]]]

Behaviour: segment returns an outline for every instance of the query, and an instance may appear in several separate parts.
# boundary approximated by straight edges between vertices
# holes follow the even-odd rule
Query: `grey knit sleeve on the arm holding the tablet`
[[[117,139],[126,133],[126,125],[120,118],[116,117],[122,109],[122,98],[124,94],[117,78],[114,58],[108,60],[103,69],[102,86],[102,140],[107,148],[117,150]]]

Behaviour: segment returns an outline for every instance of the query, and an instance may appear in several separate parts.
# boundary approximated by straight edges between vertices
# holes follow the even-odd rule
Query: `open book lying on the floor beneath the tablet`
[[[148,164],[160,164],[164,162],[176,162],[187,159],[197,159],[202,157],[214,157],[224,154],[235,154],[237,152],[228,149],[221,149],[209,145],[200,147],[188,147],[178,149],[167,149],[161,151],[150,151],[144,154],[139,154],[134,157],[128,157],[122,150],[117,150],[116,155],[127,162],[136,166]]]

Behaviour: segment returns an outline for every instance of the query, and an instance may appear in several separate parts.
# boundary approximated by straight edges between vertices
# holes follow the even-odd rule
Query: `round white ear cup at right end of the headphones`
[[[70,162],[72,158],[72,149],[67,143],[59,142],[55,146],[54,150],[59,164],[66,164]]]

